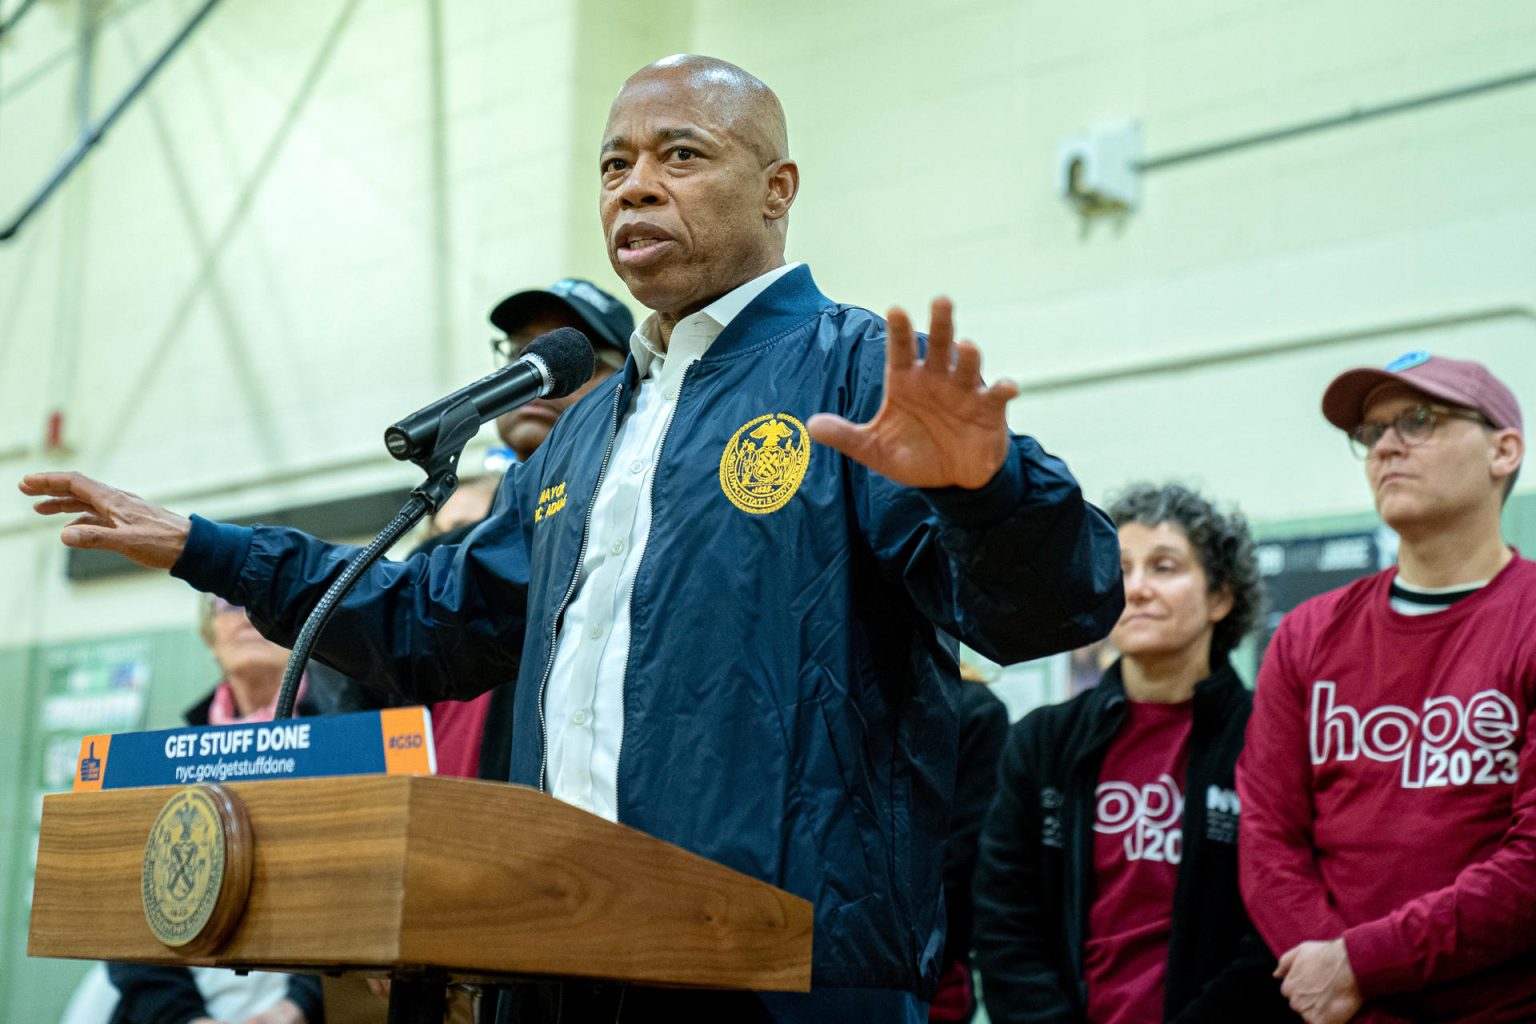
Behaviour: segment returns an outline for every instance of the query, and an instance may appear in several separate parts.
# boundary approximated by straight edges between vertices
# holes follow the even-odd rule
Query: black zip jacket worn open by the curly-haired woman
[[[1253,699],[1223,662],[1195,686],[1163,1018],[1295,1021],[1238,895],[1233,768]],[[1094,689],[1009,729],[975,875],[975,947],[992,1024],[1084,1021],[1098,769],[1124,718],[1117,662]]]

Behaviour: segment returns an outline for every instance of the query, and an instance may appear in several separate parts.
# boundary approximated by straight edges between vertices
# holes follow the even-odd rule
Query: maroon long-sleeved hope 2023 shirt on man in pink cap
[[[1342,935],[1367,999],[1531,1021],[1536,563],[1430,616],[1393,611],[1392,579],[1306,602],[1264,656],[1238,760],[1244,901],[1276,953]]]

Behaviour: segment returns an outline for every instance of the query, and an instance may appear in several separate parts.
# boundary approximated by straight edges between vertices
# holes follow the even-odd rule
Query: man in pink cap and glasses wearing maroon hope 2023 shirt
[[[1519,404],[1481,364],[1415,352],[1338,376],[1322,415],[1401,548],[1266,654],[1244,900],[1309,1022],[1536,1019],[1536,563],[1499,530]]]

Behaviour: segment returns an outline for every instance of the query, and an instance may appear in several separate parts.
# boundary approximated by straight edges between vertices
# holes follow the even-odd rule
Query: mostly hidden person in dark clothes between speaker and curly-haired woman
[[[945,840],[945,964],[938,992],[928,1006],[929,1021],[963,1022],[975,1016],[971,889],[982,821],[997,791],[997,760],[1008,737],[1008,708],[986,683],[986,676],[975,665],[960,662],[960,686],[955,691],[960,746],[954,814],[949,838]]]

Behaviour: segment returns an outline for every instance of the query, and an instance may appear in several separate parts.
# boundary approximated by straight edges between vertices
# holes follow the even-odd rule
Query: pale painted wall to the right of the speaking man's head
[[[796,23],[816,29],[776,29]],[[1097,497],[1178,476],[1258,520],[1369,508],[1318,401],[1412,348],[1484,359],[1536,408],[1536,84],[1149,173],[1140,210],[1086,235],[1052,190],[1058,143],[1098,121],[1140,120],[1155,157],[1528,71],[1530,3],[702,0],[697,46],[783,97],[791,249],[823,289],[949,293],[1026,387],[1510,310],[1028,393],[1015,428]]]

